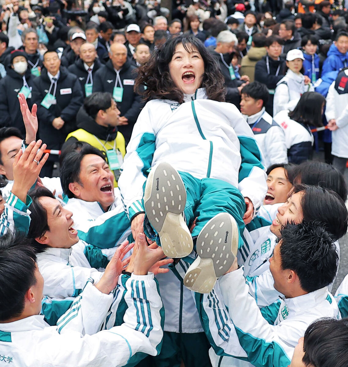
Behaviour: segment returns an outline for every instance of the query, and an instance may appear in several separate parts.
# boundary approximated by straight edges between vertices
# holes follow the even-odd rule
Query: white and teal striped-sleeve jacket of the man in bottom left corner
[[[124,299],[123,324],[98,332],[113,294],[88,281],[58,326],[50,327],[42,315],[0,324],[1,356],[13,367],[117,367],[157,355],[164,313],[153,274],[128,277]]]

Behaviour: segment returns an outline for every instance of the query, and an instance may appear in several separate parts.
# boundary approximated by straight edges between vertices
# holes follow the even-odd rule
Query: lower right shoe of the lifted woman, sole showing
[[[209,293],[218,277],[224,275],[237,255],[239,229],[235,218],[219,213],[200,231],[197,258],[188,268],[184,286],[199,293]]]

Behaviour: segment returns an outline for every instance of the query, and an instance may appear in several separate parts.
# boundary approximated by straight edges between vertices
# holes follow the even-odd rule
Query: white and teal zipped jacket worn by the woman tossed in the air
[[[148,171],[166,161],[198,179],[231,183],[254,204],[267,192],[262,153],[236,106],[211,101],[200,88],[181,105],[155,99],[146,103],[134,125],[118,184],[131,219],[144,212],[143,186]]]

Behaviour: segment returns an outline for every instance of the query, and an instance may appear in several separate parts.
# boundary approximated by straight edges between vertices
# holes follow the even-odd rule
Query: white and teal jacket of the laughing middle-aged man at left
[[[81,240],[99,248],[110,248],[119,245],[131,234],[120,190],[115,188],[114,192],[115,201],[107,212],[104,212],[98,201],[76,198],[68,200],[65,209],[72,211],[74,228]]]

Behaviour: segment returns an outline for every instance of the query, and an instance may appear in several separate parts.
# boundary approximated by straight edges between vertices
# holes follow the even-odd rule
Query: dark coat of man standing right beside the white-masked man
[[[57,104],[49,109],[41,106],[41,102],[50,90],[51,81],[47,70],[43,69],[41,76],[33,83],[33,103],[37,104],[40,138],[47,144],[47,149],[61,149],[66,135],[76,128],[76,113],[83,103],[83,94],[77,76],[68,72],[64,66],[59,69],[55,98]],[[51,94],[53,92],[51,91]],[[56,117],[64,120],[64,126],[57,130],[52,126]]]

